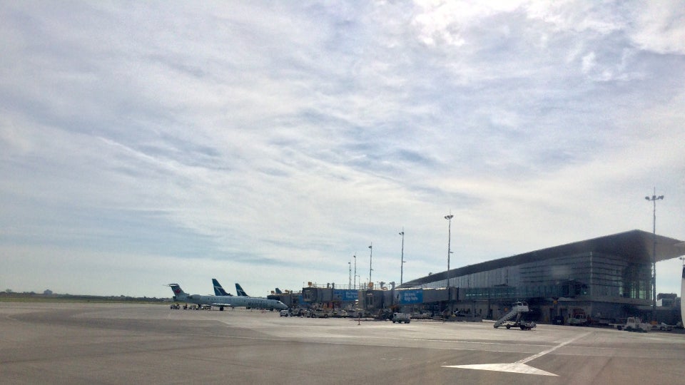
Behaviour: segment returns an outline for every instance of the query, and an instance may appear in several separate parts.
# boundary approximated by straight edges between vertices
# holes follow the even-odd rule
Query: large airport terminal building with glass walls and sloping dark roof
[[[655,242],[656,262],[685,254],[681,240],[632,230],[414,279],[392,290],[390,302],[497,319],[526,301],[537,322],[576,311],[606,319],[646,314]]]

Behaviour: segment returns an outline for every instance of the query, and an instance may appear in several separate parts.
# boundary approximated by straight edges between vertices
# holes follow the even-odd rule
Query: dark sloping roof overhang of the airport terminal
[[[651,232],[631,230],[594,238],[592,240],[568,243],[567,245],[549,247],[547,249],[514,255],[512,257],[500,258],[499,260],[452,269],[450,270],[450,277],[462,277],[467,274],[486,272],[500,267],[522,265],[524,263],[549,260],[567,255],[577,255],[584,252],[601,252],[604,254],[625,257],[626,260],[630,260],[631,262],[649,263],[651,262],[653,247],[654,235]],[[656,262],[671,260],[672,258],[680,257],[681,255],[685,255],[684,241],[656,235]],[[416,287],[420,284],[440,281],[442,279],[447,279],[446,271],[405,282],[400,287]]]

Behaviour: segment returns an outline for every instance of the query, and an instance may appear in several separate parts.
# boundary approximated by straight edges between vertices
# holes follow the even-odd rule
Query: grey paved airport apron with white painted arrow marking
[[[685,334],[0,303],[1,384],[684,384]]]

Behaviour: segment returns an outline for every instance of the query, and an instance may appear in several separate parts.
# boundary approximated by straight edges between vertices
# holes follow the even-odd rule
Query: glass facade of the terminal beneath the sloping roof
[[[635,259],[639,260],[639,259]],[[462,300],[517,300],[554,297],[619,298],[649,301],[651,264],[598,252],[555,257],[450,278]],[[447,279],[422,284],[447,286]]]

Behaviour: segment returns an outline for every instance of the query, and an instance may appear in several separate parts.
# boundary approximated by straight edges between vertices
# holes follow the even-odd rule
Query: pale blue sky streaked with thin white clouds
[[[654,189],[656,233],[685,239],[684,1],[2,1],[0,19],[0,290],[406,282],[447,269],[448,238],[455,268],[651,232]],[[658,292],[680,266],[657,264]]]

